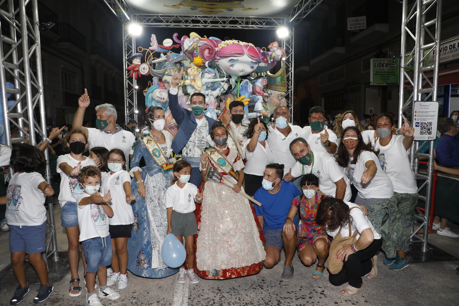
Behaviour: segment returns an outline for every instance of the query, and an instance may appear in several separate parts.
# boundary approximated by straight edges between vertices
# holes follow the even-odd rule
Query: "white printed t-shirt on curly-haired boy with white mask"
[[[78,227],[80,229],[79,241],[88,240],[91,238],[108,236],[108,217],[99,204],[88,204],[80,206],[79,203],[82,199],[89,197],[84,193],[77,198],[78,206]],[[101,194],[101,196],[103,196]]]

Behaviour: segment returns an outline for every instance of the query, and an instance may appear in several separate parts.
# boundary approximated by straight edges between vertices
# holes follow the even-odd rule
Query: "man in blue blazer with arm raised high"
[[[169,108],[172,116],[179,126],[179,131],[172,142],[172,149],[177,154],[182,151],[182,158],[191,164],[190,183],[199,187],[202,182],[199,171],[202,149],[207,148],[207,135],[215,123],[215,120],[204,114],[206,109],[206,97],[202,93],[191,95],[190,108],[187,110],[179,105],[178,84],[182,78],[183,67],[180,73],[174,74],[169,89]]]

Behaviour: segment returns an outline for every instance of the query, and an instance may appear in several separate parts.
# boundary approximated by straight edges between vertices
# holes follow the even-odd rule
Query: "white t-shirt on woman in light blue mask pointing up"
[[[269,138],[269,137],[268,137]],[[247,139],[244,147],[247,148],[251,139]],[[257,146],[253,152],[249,152],[246,149],[246,167],[244,167],[244,173],[263,176],[266,165],[274,162],[274,155],[269,148],[268,141],[265,141],[265,147],[257,141]]]

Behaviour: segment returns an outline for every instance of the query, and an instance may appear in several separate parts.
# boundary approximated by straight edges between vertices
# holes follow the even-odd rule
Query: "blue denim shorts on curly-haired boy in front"
[[[110,235],[101,238],[95,237],[82,241],[84,259],[86,259],[86,272],[95,273],[99,267],[112,264],[112,241]]]

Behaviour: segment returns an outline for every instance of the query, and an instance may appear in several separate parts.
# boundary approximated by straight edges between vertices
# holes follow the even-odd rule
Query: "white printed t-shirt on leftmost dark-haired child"
[[[42,182],[37,172],[14,173],[6,191],[6,223],[33,226],[46,221],[45,195],[38,189]]]

